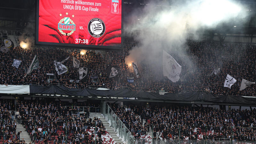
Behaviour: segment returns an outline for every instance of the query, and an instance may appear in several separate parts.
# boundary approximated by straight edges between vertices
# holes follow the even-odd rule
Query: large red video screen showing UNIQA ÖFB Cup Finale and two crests
[[[37,0],[36,44],[121,48],[122,0]]]

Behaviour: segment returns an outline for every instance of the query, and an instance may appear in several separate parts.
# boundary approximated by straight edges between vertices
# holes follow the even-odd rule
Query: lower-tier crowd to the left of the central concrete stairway
[[[55,105],[51,102],[26,100],[16,102],[17,112],[10,113],[9,104],[10,102],[5,100],[0,102],[0,143],[26,143],[24,139],[20,139],[20,132],[16,132],[17,124],[22,124],[26,128],[31,141],[33,143],[36,141],[36,144],[65,142],[95,144],[95,135],[98,144],[111,140],[111,137],[109,140],[101,139],[101,135],[108,136],[108,132],[100,118],[89,118],[89,108],[79,115],[81,109],[79,106],[65,107],[61,103]]]

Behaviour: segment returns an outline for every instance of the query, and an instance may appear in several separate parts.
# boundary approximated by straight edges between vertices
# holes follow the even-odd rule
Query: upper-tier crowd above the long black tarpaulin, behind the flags
[[[177,54],[170,52],[182,66],[180,74],[182,81],[176,83],[164,77],[161,70],[155,71],[150,64],[145,62],[138,64],[140,75],[137,78],[132,66],[128,66],[124,61],[129,50],[135,45],[134,41],[125,42],[122,51],[102,53],[90,50],[80,53],[80,51],[68,49],[33,48],[30,50],[15,47],[8,53],[0,54],[0,84],[22,85],[28,82],[42,86],[60,84],[70,88],[95,85],[107,86],[114,90],[120,87],[130,87],[133,91],[146,92],[158,92],[163,88],[165,92],[172,93],[208,91],[217,95],[255,96],[255,84],[239,91],[242,78],[251,82],[256,81],[256,46],[253,44],[226,43],[221,45],[217,42],[188,42],[187,46],[184,46],[188,57],[180,58]],[[23,77],[35,55],[39,60],[39,68]],[[68,72],[58,75],[53,61],[62,61],[68,56],[70,59],[63,63],[68,68]],[[79,79],[79,74],[77,68],[73,67],[72,56],[80,60],[80,67],[89,66],[87,81],[76,81]],[[12,67],[13,59],[22,60],[18,69]],[[120,71],[116,77],[109,78],[108,68],[111,66],[117,66]],[[216,75],[213,73],[214,69],[220,69]],[[56,79],[48,82],[46,73],[55,74]],[[223,86],[227,74],[237,80],[231,89]],[[128,83],[127,76],[135,77],[134,82]]]

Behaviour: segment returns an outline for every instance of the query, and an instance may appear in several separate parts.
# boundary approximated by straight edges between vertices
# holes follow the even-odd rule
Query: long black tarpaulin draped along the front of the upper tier
[[[256,97],[232,96],[232,95],[214,95],[208,92],[187,92],[187,93],[166,93],[160,95],[157,92],[134,92],[128,89],[123,90],[93,90],[93,89],[76,89],[63,86],[36,86],[30,85],[31,94],[60,94],[68,96],[84,97],[121,97],[121,98],[138,98],[153,100],[177,100],[177,101],[205,101],[221,102],[234,104],[256,105]]]

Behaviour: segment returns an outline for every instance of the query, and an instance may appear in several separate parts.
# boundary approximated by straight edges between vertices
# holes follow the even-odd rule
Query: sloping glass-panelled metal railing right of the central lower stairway
[[[106,102],[103,103],[103,115],[108,123],[111,124],[111,127],[114,128],[114,131],[117,132],[117,135],[126,143],[133,144],[135,142],[135,138],[132,135],[132,132],[127,129],[124,123],[119,119],[118,116],[114,113],[114,111],[109,107]]]

